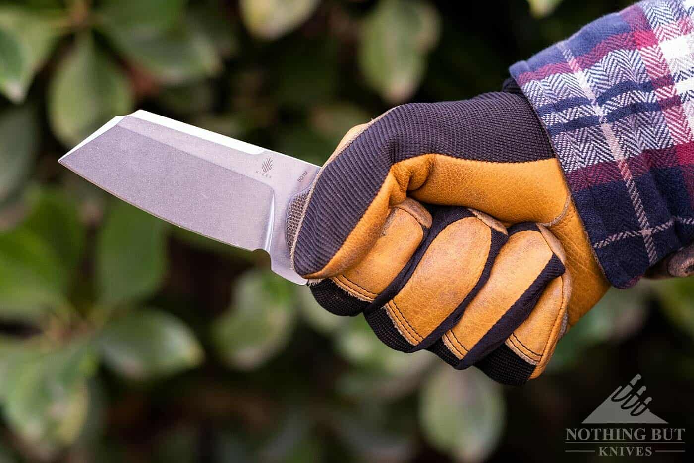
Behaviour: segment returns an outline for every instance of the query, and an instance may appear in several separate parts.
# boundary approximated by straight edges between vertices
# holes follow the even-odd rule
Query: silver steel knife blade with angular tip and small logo
[[[59,162],[172,224],[264,249],[274,272],[306,281],[289,264],[285,228],[289,201],[316,165],[142,110],[115,117]]]

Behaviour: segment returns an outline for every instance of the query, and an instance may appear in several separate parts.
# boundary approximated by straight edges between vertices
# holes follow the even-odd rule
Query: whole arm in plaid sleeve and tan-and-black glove
[[[693,14],[636,3],[511,66],[507,92],[353,128],[291,205],[294,268],[393,348],[538,376],[609,285],[694,270]]]

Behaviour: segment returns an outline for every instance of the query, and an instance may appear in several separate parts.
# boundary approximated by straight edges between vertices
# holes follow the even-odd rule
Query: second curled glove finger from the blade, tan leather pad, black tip
[[[398,351],[426,348],[456,323],[507,239],[502,224],[477,211],[443,207],[432,215],[409,265],[364,309],[375,334]]]

